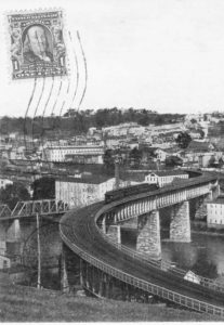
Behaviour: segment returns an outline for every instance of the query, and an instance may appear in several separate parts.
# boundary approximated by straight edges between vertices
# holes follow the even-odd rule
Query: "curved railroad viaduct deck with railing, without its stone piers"
[[[108,240],[104,230],[100,230],[97,225],[98,221],[102,225],[104,219],[106,222],[111,220],[111,216],[114,222],[119,222],[124,218],[134,218],[136,212],[145,214],[161,206],[179,205],[195,196],[211,194],[216,191],[216,186],[215,177],[202,176],[176,186],[126,197],[107,205],[102,202],[67,212],[61,220],[61,237],[65,246],[80,258],[81,285],[98,296],[111,297],[109,291],[113,290],[113,281],[119,281],[126,291],[124,298],[129,296],[127,286],[132,286],[142,292],[224,317],[224,290],[219,285],[211,287],[193,283],[170,269],[162,270],[158,266],[159,263],[146,261],[136,253],[122,249],[121,245]],[[150,205],[150,202],[154,204]],[[139,207],[131,209],[133,203],[140,203],[142,210]],[[65,258],[62,269],[64,280],[67,281]]]

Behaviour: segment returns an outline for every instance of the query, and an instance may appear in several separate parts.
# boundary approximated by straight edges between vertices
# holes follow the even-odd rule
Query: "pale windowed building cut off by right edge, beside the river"
[[[208,227],[224,227],[224,195],[207,203]]]

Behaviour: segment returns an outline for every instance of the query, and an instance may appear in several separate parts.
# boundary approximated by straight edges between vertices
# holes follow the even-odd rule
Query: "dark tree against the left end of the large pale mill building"
[[[51,199],[55,197],[55,180],[53,178],[43,177],[35,180],[31,188],[34,190],[34,199]]]

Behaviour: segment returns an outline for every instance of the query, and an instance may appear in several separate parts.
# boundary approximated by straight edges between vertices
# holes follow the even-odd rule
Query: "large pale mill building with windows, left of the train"
[[[55,181],[55,198],[70,207],[82,207],[104,199],[104,194],[115,188],[115,178],[89,176],[62,178]]]

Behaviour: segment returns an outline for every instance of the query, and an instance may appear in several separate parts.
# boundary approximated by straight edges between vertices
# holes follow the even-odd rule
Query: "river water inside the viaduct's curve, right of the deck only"
[[[135,249],[136,235],[135,230],[122,230],[121,243]],[[197,270],[200,264],[198,270],[203,271],[201,275],[224,281],[224,236],[192,233],[192,243],[172,243],[163,238],[161,256],[162,259],[185,270]]]

